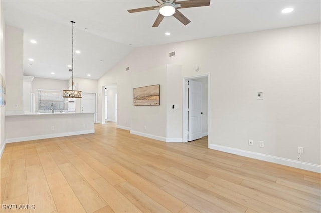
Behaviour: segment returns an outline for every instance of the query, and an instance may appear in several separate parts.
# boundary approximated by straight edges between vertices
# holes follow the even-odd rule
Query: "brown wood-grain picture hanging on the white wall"
[[[161,85],[134,88],[134,106],[161,105]]]

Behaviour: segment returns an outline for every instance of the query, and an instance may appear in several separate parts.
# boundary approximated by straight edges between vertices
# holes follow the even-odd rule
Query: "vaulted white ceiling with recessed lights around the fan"
[[[321,6],[319,0],[211,0],[210,6],[180,10],[191,20],[186,26],[171,16],[152,28],[158,10],[132,14],[127,10],[156,6],[155,0],[2,3],[6,24],[24,30],[24,74],[55,79],[71,76],[67,67],[71,64],[71,20],[76,22],[74,48],[81,51],[75,54],[74,75],[99,79],[136,47],[319,23]],[[294,11],[282,14],[286,7]],[[31,39],[37,44],[30,43]]]

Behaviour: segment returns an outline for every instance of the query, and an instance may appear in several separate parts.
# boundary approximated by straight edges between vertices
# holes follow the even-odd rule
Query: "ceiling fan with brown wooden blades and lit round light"
[[[176,1],[176,0],[155,0],[159,3],[158,6],[149,6],[138,9],[129,9],[129,13],[134,12],[143,12],[149,10],[159,10],[158,17],[156,18],[152,27],[158,27],[162,22],[165,16],[174,16],[184,25],[189,24],[191,21],[185,17],[178,9],[199,7],[199,6],[209,6],[211,0],[185,0],[185,1]]]

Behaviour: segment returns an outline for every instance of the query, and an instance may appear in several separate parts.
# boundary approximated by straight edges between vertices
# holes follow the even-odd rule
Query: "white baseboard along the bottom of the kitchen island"
[[[65,133],[57,133],[57,134],[44,134],[44,135],[36,135],[36,136],[28,136],[28,137],[10,138],[10,139],[6,139],[6,143],[41,140],[41,139],[48,139],[48,138],[55,138],[55,137],[66,137],[66,136],[73,136],[73,135],[79,135],[79,134],[91,134],[91,133],[95,133],[95,130],[74,131],[74,132],[65,132]]]

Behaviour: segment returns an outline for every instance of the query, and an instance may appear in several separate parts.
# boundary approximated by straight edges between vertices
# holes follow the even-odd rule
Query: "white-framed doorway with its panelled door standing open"
[[[208,138],[209,147],[210,74],[186,77],[183,87],[183,142]]]

